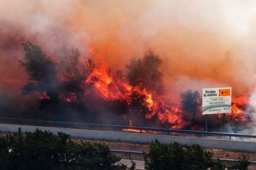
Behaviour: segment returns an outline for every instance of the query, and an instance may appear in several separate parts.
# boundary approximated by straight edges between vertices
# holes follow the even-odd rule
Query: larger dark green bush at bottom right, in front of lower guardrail
[[[146,169],[223,169],[220,160],[213,153],[203,150],[198,144],[188,146],[177,142],[150,144],[150,150],[144,157]]]

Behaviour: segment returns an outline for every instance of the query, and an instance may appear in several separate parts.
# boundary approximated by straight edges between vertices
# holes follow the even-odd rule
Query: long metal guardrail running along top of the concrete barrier
[[[184,135],[194,135],[195,137],[228,137],[228,140],[231,140],[232,137],[239,137],[244,139],[256,139],[256,135],[245,135],[239,133],[221,133],[221,132],[209,132],[209,131],[190,131],[190,130],[181,130],[181,129],[160,129],[152,127],[134,127],[134,126],[117,126],[117,125],[106,125],[106,124],[88,124],[81,122],[59,122],[51,120],[31,120],[31,119],[17,119],[17,118],[0,118],[1,121],[5,122],[16,122],[19,124],[36,124],[37,126],[68,126],[77,129],[83,129],[85,127],[93,127],[95,129],[101,130],[119,130],[123,131],[124,129],[133,129],[139,131],[139,133],[160,133],[164,135],[174,135],[174,136],[184,136]],[[132,131],[131,131],[132,132]],[[137,132],[138,133],[138,132]],[[256,141],[256,140],[255,140]]]

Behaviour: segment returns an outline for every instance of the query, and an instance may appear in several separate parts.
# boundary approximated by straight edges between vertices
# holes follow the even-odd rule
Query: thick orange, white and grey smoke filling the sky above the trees
[[[0,94],[22,97],[28,77],[19,63],[20,44],[31,41],[47,54],[65,45],[89,56],[93,47],[114,70],[151,49],[163,60],[167,93],[231,86],[234,95],[250,95],[256,85],[255,7],[249,0],[1,0]]]

